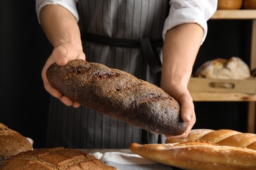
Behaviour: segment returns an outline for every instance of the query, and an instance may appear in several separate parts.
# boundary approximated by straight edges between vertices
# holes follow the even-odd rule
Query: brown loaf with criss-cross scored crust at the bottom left
[[[57,170],[57,169],[116,169],[82,150],[71,148],[42,148],[21,152],[3,161],[0,170]]]

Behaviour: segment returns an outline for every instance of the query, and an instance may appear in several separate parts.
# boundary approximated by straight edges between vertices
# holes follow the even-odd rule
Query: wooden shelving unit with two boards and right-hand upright
[[[256,68],[256,10],[217,10],[211,20],[252,20],[251,69]],[[193,101],[248,101],[247,132],[255,133],[256,94],[228,92],[190,92]]]

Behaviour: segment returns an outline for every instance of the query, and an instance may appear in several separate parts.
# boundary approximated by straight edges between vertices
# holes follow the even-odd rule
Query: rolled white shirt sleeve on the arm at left
[[[56,4],[61,5],[62,7],[65,7],[68,9],[75,17],[75,20],[78,22],[79,16],[76,8],[77,0],[35,0],[35,11],[37,13],[37,18],[39,20],[39,14],[42,7],[49,4]]]

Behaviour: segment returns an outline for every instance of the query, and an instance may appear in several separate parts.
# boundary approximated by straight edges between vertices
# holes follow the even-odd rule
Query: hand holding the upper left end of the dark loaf
[[[45,90],[49,92],[54,97],[57,97],[67,106],[73,105],[73,107],[79,107],[79,103],[72,101],[68,97],[62,95],[58,90],[53,88],[49,81],[47,80],[46,71],[48,67],[53,64],[57,63],[58,65],[66,65],[69,60],[73,59],[85,59],[85,54],[82,50],[77,50],[78,48],[75,48],[71,43],[62,43],[56,46],[53,49],[53,53],[49,58],[47,59],[45,66],[43,67],[43,71],[41,73],[41,76],[43,78],[43,84],[45,86]]]

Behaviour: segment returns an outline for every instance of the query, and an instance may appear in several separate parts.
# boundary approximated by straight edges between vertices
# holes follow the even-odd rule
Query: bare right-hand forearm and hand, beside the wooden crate
[[[196,122],[194,103],[187,89],[192,67],[202,42],[203,29],[198,24],[181,24],[167,31],[163,45],[161,88],[181,104],[181,116],[189,123],[186,137]]]

